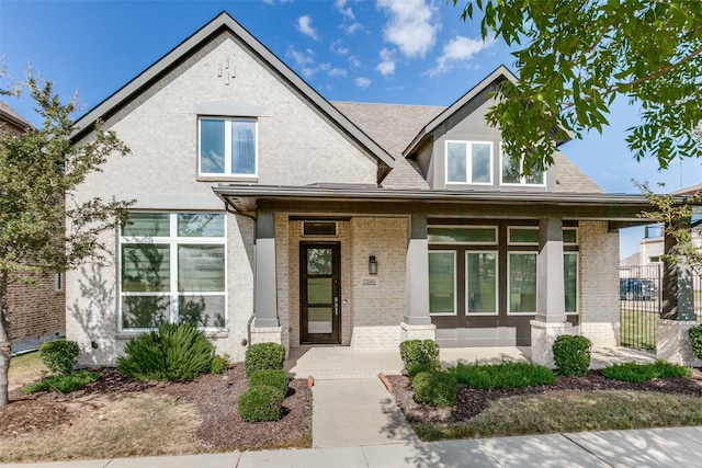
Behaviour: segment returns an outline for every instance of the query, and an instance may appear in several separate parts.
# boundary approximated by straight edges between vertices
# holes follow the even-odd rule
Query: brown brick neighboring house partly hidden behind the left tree
[[[20,137],[32,125],[0,101],[0,132]],[[12,283],[8,290],[8,319],[12,351],[35,349],[41,341],[64,334],[66,295],[61,275],[36,277],[36,285]]]

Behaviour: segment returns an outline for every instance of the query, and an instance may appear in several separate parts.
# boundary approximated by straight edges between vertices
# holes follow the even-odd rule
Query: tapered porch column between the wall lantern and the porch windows
[[[411,215],[407,246],[407,310],[401,323],[401,340],[434,339],[435,327],[429,317],[429,242],[427,215]]]

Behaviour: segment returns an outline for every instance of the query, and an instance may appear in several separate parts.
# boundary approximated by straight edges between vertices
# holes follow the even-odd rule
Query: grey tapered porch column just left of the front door
[[[253,326],[256,328],[280,327],[275,287],[275,227],[273,213],[270,210],[259,210],[253,249],[256,259]]]

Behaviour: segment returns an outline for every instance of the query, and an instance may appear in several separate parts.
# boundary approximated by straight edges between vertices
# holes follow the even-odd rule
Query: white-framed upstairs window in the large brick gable
[[[250,118],[200,118],[200,174],[257,174],[257,123]]]

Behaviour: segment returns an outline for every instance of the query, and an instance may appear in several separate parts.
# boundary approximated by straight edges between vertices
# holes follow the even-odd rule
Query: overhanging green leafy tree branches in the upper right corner
[[[553,163],[554,141],[602,132],[616,96],[642,110],[626,138],[637,161],[701,156],[702,2],[469,0],[462,19],[480,13],[483,38],[514,48],[519,83],[500,83],[487,119],[524,173]]]

